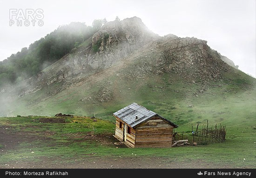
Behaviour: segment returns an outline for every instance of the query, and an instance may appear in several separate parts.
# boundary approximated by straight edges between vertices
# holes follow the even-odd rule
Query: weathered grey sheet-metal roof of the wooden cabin
[[[148,119],[152,118],[155,115],[167,121],[170,125],[174,125],[175,127],[178,127],[178,125],[175,125],[171,121],[164,119],[162,116],[158,115],[157,113],[150,111],[147,108],[143,107],[142,105],[138,105],[137,103],[128,105],[122,108],[121,110],[115,112],[113,115],[118,117],[119,119],[121,119],[122,121],[124,121],[126,124],[130,125],[133,128],[136,125],[146,122]],[[136,119],[136,116],[138,117],[137,119]]]

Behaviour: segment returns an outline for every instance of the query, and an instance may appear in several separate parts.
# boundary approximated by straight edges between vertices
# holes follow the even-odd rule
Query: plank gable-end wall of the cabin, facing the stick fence
[[[155,117],[136,128],[135,147],[171,147],[173,126]]]

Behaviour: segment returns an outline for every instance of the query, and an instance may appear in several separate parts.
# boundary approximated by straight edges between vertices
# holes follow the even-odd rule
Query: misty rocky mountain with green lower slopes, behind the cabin
[[[103,115],[137,100],[189,100],[233,84],[248,88],[255,79],[237,70],[207,41],[161,37],[133,17],[106,23],[36,76],[2,87],[0,115]]]

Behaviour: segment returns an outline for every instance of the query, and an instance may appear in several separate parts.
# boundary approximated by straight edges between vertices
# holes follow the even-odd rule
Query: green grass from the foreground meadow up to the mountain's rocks
[[[255,79],[235,70],[232,75],[223,73],[223,79],[210,81],[207,88],[199,92],[200,80],[191,82],[175,74],[129,81],[115,73],[107,71],[105,74],[102,80],[88,78],[52,97],[47,95],[47,91],[58,88],[60,83],[18,100],[13,113],[21,117],[0,118],[0,167],[15,167],[19,163],[33,163],[40,167],[45,162],[77,165],[77,162],[88,158],[101,159],[102,164],[108,165],[121,158],[139,161],[151,158],[162,160],[167,168],[204,168],[207,165],[210,168],[255,168]],[[106,87],[111,88],[112,98],[99,102],[97,93]],[[92,100],[81,100],[89,96]],[[115,134],[115,119],[112,114],[133,102],[179,125],[175,132],[180,136],[184,132],[189,142],[191,126],[195,130],[199,124],[200,129],[207,120],[209,127],[226,125],[226,140],[172,148],[130,149],[115,145],[117,140],[112,136]],[[53,118],[59,112],[75,116],[66,117],[66,123],[40,121]],[[27,116],[30,114],[34,116]],[[97,122],[91,119],[94,115]],[[109,158],[110,163],[105,163]]]

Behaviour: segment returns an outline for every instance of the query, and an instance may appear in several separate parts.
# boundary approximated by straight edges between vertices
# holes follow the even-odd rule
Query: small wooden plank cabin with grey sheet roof
[[[115,138],[128,147],[171,147],[173,144],[173,129],[178,125],[137,103],[113,115]]]

